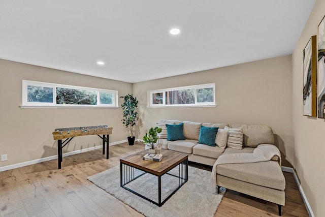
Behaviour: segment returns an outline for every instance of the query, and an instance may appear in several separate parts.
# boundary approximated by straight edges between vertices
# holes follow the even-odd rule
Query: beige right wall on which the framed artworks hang
[[[325,216],[325,121],[303,116],[303,50],[325,15],[325,1],[317,0],[293,52],[294,167],[315,216]]]

